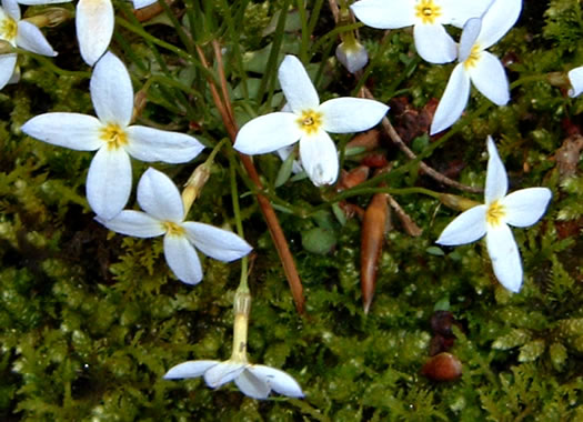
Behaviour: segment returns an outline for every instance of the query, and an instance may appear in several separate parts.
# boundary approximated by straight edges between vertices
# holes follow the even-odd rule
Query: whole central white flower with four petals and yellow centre
[[[315,185],[338,178],[334,142],[326,132],[350,133],[372,128],[389,108],[360,98],[335,98],[320,104],[314,86],[300,60],[287,56],[279,80],[291,110],[261,115],[239,131],[234,148],[245,154],[273,152],[300,141],[300,160]]]

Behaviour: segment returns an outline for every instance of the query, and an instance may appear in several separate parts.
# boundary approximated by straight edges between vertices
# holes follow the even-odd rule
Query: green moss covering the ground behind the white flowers
[[[245,67],[252,67],[253,60],[264,62],[261,51],[273,40],[265,29],[277,23],[285,1],[241,2],[245,12],[234,3],[232,14],[245,22],[234,50],[251,52],[244,56]],[[250,359],[292,374],[305,392],[303,400],[273,395],[255,401],[232,384],[212,391],[200,379],[162,380],[168,369],[185,360],[229,358],[240,265],[204,259],[203,282],[189,287],[169,271],[161,239],[124,238],[97,223],[83,190],[92,153],[44,144],[20,131],[24,121],[47,111],[92,113],[88,79],[56,73],[22,56],[21,82],[0,92],[0,419],[583,420],[582,165],[579,160],[574,174],[565,177],[556,161],[567,127],[581,130],[583,99],[570,99],[566,86],[553,87],[544,78],[547,72],[583,66],[583,17],[575,0],[527,0],[523,6],[517,26],[491,49],[506,64],[511,82],[522,81],[512,90],[511,102],[504,108],[490,105],[426,160],[442,171],[453,159],[461,160],[465,165],[460,180],[483,185],[485,137],[492,134],[512,190],[545,185],[553,191],[545,218],[533,228],[514,230],[525,270],[519,294],[497,283],[480,242],[435,248],[435,239],[455,212],[426,197],[400,195],[396,199],[423,234],[406,235],[393,219],[369,315],[363,314],[360,298],[360,222],[351,219],[342,225],[326,207],[318,219],[279,214],[305,288],[308,312],[299,316],[258,205],[251,194],[242,195],[245,238],[255,253],[250,275]],[[215,13],[222,19],[227,12],[218,7]],[[298,14],[301,19],[301,13],[291,12],[289,22]],[[287,52],[298,51],[299,30],[290,27],[282,43]],[[332,29],[324,4],[314,37]],[[149,30],[180,44],[168,27]],[[393,31],[384,44],[381,31],[364,28],[361,37],[375,58],[366,83],[376,98],[389,101],[404,96],[412,107],[422,108],[441,97],[452,64],[430,66],[415,59],[410,31]],[[84,69],[71,22],[50,29],[48,38],[60,52],[59,67]],[[227,37],[229,47],[228,41]],[[330,46],[335,42],[332,37]],[[330,49],[321,47],[311,59],[325,63],[314,67],[321,97],[349,94],[354,79],[329,61]],[[190,131],[209,145],[225,137],[199,69],[170,54],[168,69],[160,68],[152,47],[123,30],[112,48],[135,76],[137,89],[147,77],[160,73],[201,93],[187,97],[154,83],[141,123]],[[228,54],[234,51],[230,48]],[[129,52],[134,59],[128,59]],[[414,72],[403,74],[408,69]],[[243,80],[240,71],[228,67],[238,115],[249,119],[250,109],[271,111],[269,104],[245,99],[244,87],[238,91]],[[259,77],[249,73],[248,91],[252,91],[251,79]],[[181,99],[190,107],[182,105]],[[278,94],[272,100],[279,101]],[[487,100],[474,91],[468,110],[484,104]],[[423,148],[423,142],[419,144]],[[406,163],[389,143],[385,150],[395,168]],[[154,167],[180,184],[202,159]],[[278,159],[265,155],[257,163],[282,203],[295,210],[323,203],[305,180],[272,188]],[[346,160],[346,168],[353,165]],[[133,162],[134,180],[145,168]],[[241,193],[247,191],[243,182]],[[415,169],[391,183],[460,193]],[[333,192],[326,192],[325,198],[331,197]],[[364,205],[369,198],[352,200]],[[234,225],[224,154],[219,155],[190,218]],[[302,247],[302,233],[322,225],[333,230],[336,244],[325,254],[309,252]],[[463,362],[463,374],[454,382],[439,383],[420,374],[429,356],[430,318],[438,302],[446,303],[463,326],[456,330],[452,349]]]

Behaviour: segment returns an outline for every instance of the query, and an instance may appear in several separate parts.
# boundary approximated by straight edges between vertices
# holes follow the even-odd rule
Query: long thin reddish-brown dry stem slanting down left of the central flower
[[[215,54],[215,60],[217,60],[217,64],[219,69],[219,78],[220,78],[220,82],[222,87],[221,91],[222,91],[223,98],[221,99],[221,96],[219,94],[219,91],[214,84],[214,81],[211,79],[208,79],[209,88],[210,88],[213,101],[217,105],[217,109],[219,110],[219,113],[221,114],[223,123],[227,128],[229,138],[234,143],[239,128],[237,127],[237,122],[234,120],[232,109],[231,109],[231,102],[229,101],[229,96],[227,91],[227,79],[224,77],[224,72],[222,71],[223,67],[222,67],[220,46],[217,41],[213,41],[212,44],[213,44],[213,51]],[[201,64],[204,68],[210,69],[207,62],[207,59],[204,58],[204,53],[199,46],[197,46],[197,52],[199,54]],[[251,178],[253,183],[255,183],[258,190],[262,191],[263,184],[261,183],[261,180],[259,179],[258,171],[251,158],[242,153],[239,153],[239,157],[249,177]],[[288,283],[290,284],[290,290],[292,292],[293,301],[295,302],[295,309],[298,310],[298,313],[303,314],[305,312],[305,309],[304,309],[305,299],[303,297],[302,281],[300,279],[300,275],[298,274],[295,262],[293,261],[293,257],[288,245],[288,241],[285,240],[285,235],[283,234],[283,230],[281,229],[280,222],[278,220],[278,215],[275,214],[273,207],[271,207],[271,202],[264,194],[258,192],[257,199],[259,202],[259,207],[261,208],[261,212],[263,213],[263,218],[265,219],[265,222],[268,223],[268,229],[271,234],[271,239],[273,239],[273,243],[275,244],[275,249],[278,251],[278,254],[280,255],[280,260],[283,265],[283,271],[285,273],[285,278],[288,279]]]

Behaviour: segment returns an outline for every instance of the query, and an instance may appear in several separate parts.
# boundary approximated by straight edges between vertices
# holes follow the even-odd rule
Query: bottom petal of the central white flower
[[[338,179],[338,151],[330,135],[320,131],[300,139],[300,160],[316,187],[332,184]]]

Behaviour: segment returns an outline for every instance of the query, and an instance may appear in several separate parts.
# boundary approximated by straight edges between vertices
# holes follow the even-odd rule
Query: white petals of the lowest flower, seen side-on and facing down
[[[290,398],[303,398],[298,382],[288,373],[265,365],[253,365],[243,360],[188,361],[171,368],[164,379],[204,376],[207,385],[217,389],[234,381],[243,394],[267,399],[273,390]]]

